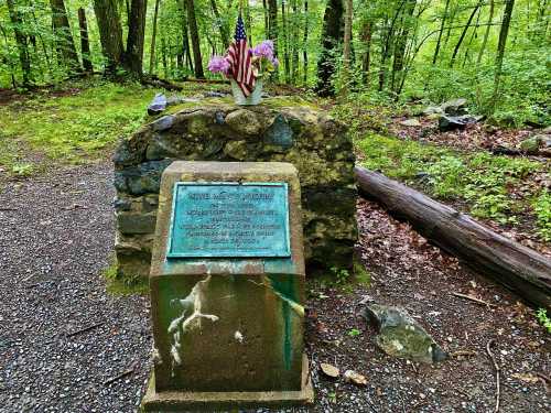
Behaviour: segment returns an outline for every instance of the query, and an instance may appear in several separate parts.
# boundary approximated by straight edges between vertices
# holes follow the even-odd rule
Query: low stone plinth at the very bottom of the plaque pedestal
[[[304,405],[314,402],[314,389],[306,355],[302,363],[302,389],[298,391],[255,392],[180,392],[155,391],[155,377],[151,373],[148,391],[142,400],[144,412],[216,411],[233,407],[258,409]]]

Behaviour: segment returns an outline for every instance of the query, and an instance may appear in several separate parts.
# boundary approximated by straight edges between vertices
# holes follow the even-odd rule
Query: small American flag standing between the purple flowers
[[[228,48],[228,61],[231,65],[231,75],[248,97],[255,89],[255,74],[252,72],[251,53],[247,45],[247,35],[241,14],[237,18],[235,41]]]

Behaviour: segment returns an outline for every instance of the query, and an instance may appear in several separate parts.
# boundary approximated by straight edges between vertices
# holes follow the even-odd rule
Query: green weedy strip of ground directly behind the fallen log
[[[515,226],[528,218],[542,241],[551,240],[547,189],[534,185],[549,165],[487,152],[458,152],[415,141],[365,133],[356,138],[361,165],[381,171],[477,218]]]

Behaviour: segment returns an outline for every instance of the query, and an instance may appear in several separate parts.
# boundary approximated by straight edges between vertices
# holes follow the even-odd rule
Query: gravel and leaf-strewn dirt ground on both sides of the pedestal
[[[148,301],[108,295],[99,275],[112,251],[111,180],[110,166],[100,164],[10,183],[0,193],[0,412],[126,413],[141,400],[151,348]],[[307,411],[489,412],[490,338],[503,369],[501,412],[549,411],[536,374],[551,373],[550,336],[532,314],[375,204],[360,202],[358,217],[358,252],[372,286],[345,293],[310,282],[316,405]],[[375,332],[360,316],[370,301],[404,306],[447,351],[476,354],[436,367],[392,359],[374,345]],[[350,336],[352,329],[360,334]],[[320,362],[356,370],[368,385],[326,379]]]

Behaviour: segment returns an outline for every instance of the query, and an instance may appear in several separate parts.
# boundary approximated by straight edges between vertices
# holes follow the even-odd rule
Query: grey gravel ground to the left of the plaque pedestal
[[[108,295],[99,275],[114,243],[111,176],[105,164],[75,167],[0,194],[0,412],[132,412],[140,402],[147,300]]]

